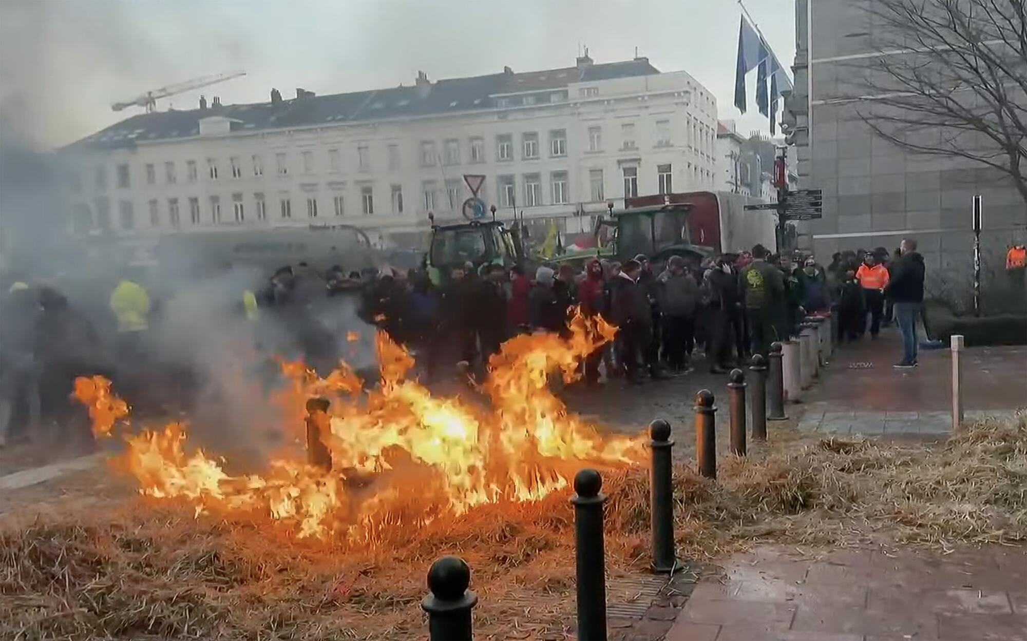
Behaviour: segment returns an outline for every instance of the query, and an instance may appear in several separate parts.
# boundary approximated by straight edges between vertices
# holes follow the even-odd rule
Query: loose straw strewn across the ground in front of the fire
[[[1024,416],[937,447],[795,439],[757,454],[722,459],[717,483],[677,469],[682,555],[773,540],[1027,540]],[[638,572],[648,562],[646,473],[611,474],[605,489],[610,574]],[[447,553],[472,568],[479,638],[561,638],[574,607],[566,499],[487,505],[397,530],[370,552],[194,520],[166,503],[48,517],[0,534],[0,638],[423,638],[425,572]]]

